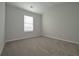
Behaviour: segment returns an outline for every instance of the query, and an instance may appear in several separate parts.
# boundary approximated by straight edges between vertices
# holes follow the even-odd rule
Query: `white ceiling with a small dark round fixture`
[[[78,2],[8,2],[7,4],[39,14],[43,14],[47,12],[47,10],[53,9],[55,6],[79,5]]]

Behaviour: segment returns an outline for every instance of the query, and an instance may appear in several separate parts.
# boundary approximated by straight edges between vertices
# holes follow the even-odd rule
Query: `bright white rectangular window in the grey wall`
[[[33,17],[24,15],[24,32],[33,31]]]

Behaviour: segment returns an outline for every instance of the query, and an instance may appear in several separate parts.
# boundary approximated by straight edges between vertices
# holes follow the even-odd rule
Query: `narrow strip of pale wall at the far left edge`
[[[5,39],[5,3],[0,2],[0,55],[4,47]]]

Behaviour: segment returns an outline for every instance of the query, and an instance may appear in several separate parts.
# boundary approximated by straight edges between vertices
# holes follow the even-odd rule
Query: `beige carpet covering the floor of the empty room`
[[[46,37],[6,43],[2,56],[76,56],[79,45]]]

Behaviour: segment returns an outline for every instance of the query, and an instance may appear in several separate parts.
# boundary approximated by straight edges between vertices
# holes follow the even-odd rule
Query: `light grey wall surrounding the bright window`
[[[34,17],[34,31],[24,32],[24,15]],[[36,37],[40,35],[41,15],[7,5],[6,9],[6,41]]]

